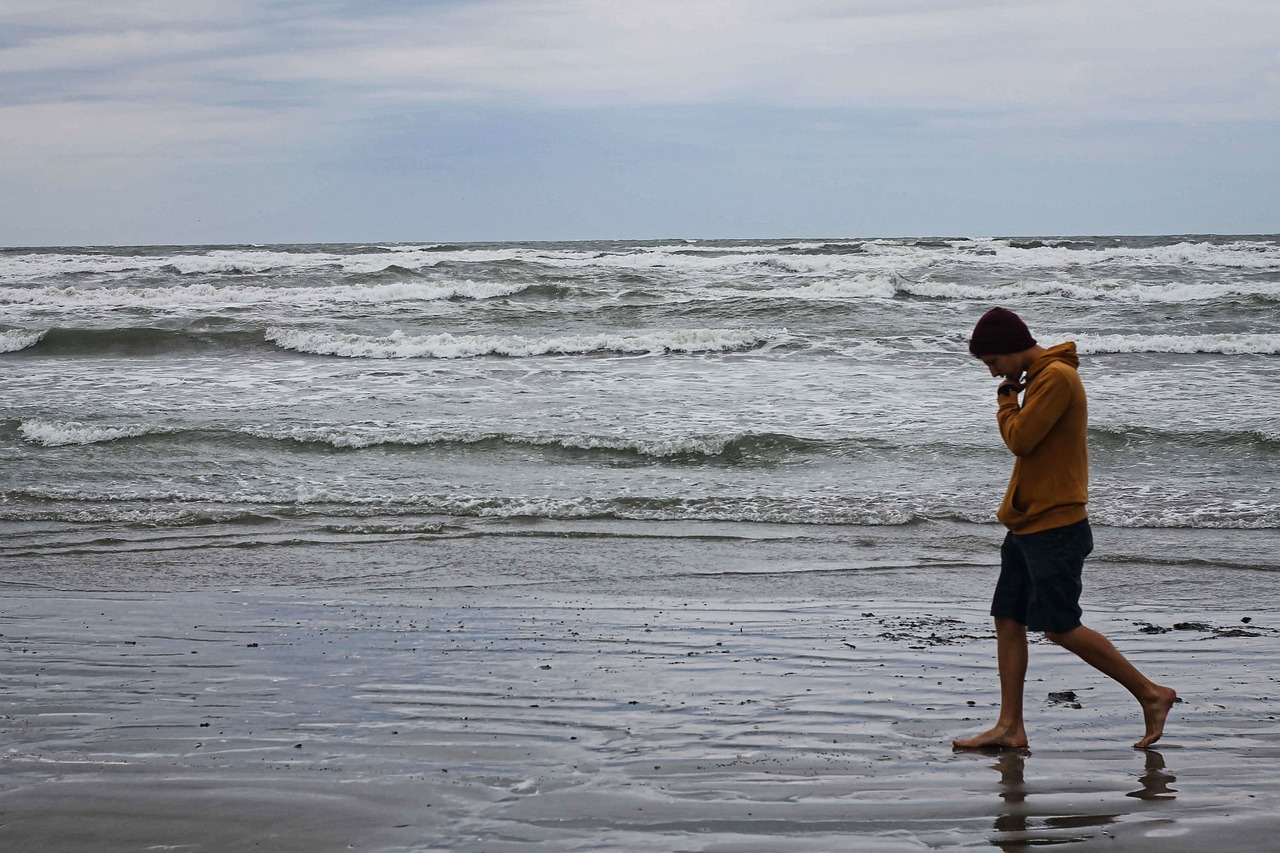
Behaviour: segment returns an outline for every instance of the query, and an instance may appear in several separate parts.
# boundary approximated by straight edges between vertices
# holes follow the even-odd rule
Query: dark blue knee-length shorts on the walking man
[[[991,615],[1033,631],[1061,634],[1080,626],[1080,573],[1093,551],[1089,520],[1065,528],[1005,535]]]

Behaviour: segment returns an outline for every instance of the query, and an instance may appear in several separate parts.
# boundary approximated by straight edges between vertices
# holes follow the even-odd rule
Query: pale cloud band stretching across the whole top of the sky
[[[228,102],[247,88],[335,110],[731,101],[1280,118],[1280,13],[1257,0],[110,5],[6,9],[0,73],[69,74],[64,97]]]

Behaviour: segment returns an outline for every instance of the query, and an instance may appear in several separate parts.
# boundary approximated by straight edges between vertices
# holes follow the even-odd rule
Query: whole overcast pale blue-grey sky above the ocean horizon
[[[0,245],[1280,232],[1276,0],[3,0]]]

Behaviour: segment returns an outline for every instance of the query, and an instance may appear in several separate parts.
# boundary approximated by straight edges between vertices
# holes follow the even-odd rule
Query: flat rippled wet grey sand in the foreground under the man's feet
[[[957,753],[951,738],[996,715],[980,605],[0,598],[5,850],[1167,853],[1280,836],[1274,610],[1087,612],[1184,698],[1155,749],[1130,747],[1128,694],[1041,640],[1030,748]]]

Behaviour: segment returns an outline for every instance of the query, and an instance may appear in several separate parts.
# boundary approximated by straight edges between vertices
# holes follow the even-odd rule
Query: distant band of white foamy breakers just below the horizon
[[[1050,245],[1019,248],[1009,241],[991,238],[937,245],[859,241],[861,251],[855,254],[815,254],[814,250],[823,245],[817,242],[397,246],[394,251],[364,254],[269,248],[155,255],[32,254],[0,256],[0,282],[15,284],[0,287],[0,307],[191,313],[257,305],[310,310],[329,305],[485,300],[517,293],[556,269],[585,270],[593,275],[603,270],[634,272],[637,277],[653,278],[663,298],[671,301],[742,296],[1004,301],[1047,297],[1129,304],[1280,301],[1280,288],[1274,280],[1252,275],[1260,270],[1280,270],[1280,247],[1271,241],[1239,240],[1222,245],[1187,241],[1172,246],[1101,248],[1066,248],[1046,242]],[[465,274],[458,280],[344,280],[347,275],[376,273],[393,264],[424,270],[442,263],[503,261],[539,272],[524,282],[485,280],[480,272],[476,280],[466,279]],[[1170,274],[1170,268],[1179,273]],[[1194,270],[1199,280],[1181,280],[1183,270]],[[974,273],[982,274],[977,280],[989,283],[974,284]],[[227,278],[229,274],[239,278]],[[52,284],[68,275],[76,275],[77,283]],[[142,288],[131,283],[140,277],[155,282],[165,275],[186,277],[197,283]],[[84,286],[83,277],[92,278],[93,284]],[[300,278],[315,280],[316,286],[287,286]],[[273,279],[284,280],[271,286]],[[41,287],[44,282],[50,284]]]

